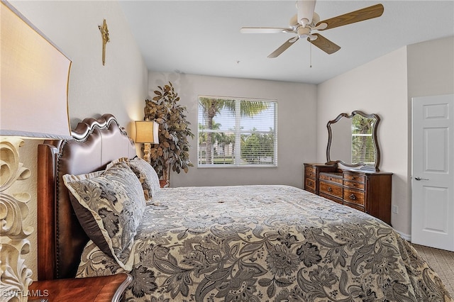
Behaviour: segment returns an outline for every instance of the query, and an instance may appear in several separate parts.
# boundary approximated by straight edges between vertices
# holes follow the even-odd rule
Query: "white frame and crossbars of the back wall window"
[[[200,99],[201,98],[206,98],[206,99],[218,99],[218,100],[226,100],[226,101],[235,101],[236,102],[236,116],[233,116],[235,118],[235,125],[238,125],[241,119],[240,111],[238,110],[240,101],[263,101],[267,103],[272,103],[274,104],[274,114],[273,114],[273,135],[274,135],[274,143],[273,143],[273,161],[271,164],[240,164],[241,160],[241,147],[240,148],[235,148],[235,151],[233,152],[233,164],[204,164],[201,163],[201,144],[200,144],[200,135],[203,133],[201,129],[199,128],[199,125],[201,125],[203,120],[200,119]],[[278,107],[278,102],[275,99],[252,99],[252,98],[240,98],[236,96],[206,96],[206,95],[199,95],[197,96],[197,134],[196,134],[196,141],[197,141],[197,162],[196,162],[196,167],[197,168],[276,168],[277,167],[277,107]],[[203,124],[202,124],[203,125]],[[206,131],[206,130],[205,130]],[[210,130],[212,133],[226,133],[226,130]],[[230,131],[229,131],[230,132]],[[233,130],[233,133],[235,134],[236,137],[236,144],[241,145],[241,135],[244,133],[253,133],[251,130],[242,130],[241,127],[238,129]],[[265,131],[265,130],[258,130],[255,131],[254,133],[270,133],[270,130]],[[239,134],[239,135],[238,135]],[[238,150],[239,149],[239,150]]]

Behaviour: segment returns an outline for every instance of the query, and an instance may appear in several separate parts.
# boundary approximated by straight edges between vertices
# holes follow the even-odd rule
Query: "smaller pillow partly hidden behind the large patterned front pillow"
[[[134,157],[133,160],[128,160],[127,157],[119,158],[118,160],[112,161],[107,165],[107,168],[111,167],[117,162],[126,162],[131,170],[135,173],[135,176],[142,184],[143,195],[145,196],[145,201],[150,201],[153,195],[157,194],[160,191],[161,186],[159,183],[159,177],[153,167],[151,167],[148,162],[141,159],[140,157]]]

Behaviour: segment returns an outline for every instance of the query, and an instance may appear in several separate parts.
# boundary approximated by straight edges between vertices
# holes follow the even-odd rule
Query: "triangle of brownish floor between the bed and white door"
[[[413,245],[413,247],[438,274],[450,295],[454,297],[454,252],[438,250],[423,245]]]

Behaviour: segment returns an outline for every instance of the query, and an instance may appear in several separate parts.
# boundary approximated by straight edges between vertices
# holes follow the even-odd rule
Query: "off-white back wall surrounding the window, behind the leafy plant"
[[[190,74],[149,74],[149,94],[158,85],[172,82],[187,106],[187,119],[197,133],[197,96],[232,96],[277,100],[277,168],[197,168],[197,138],[190,143],[189,172],[172,173],[171,186],[215,186],[239,184],[289,184],[302,187],[303,162],[315,160],[316,85],[256,79],[203,77]],[[145,103],[144,103],[145,106]]]

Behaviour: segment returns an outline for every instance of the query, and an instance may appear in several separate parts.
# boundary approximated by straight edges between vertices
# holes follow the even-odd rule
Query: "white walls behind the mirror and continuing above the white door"
[[[382,171],[393,172],[392,225],[411,238],[411,98],[454,93],[454,38],[403,47],[319,84],[317,161],[326,157],[326,122],[362,110],[382,121],[378,139]]]

